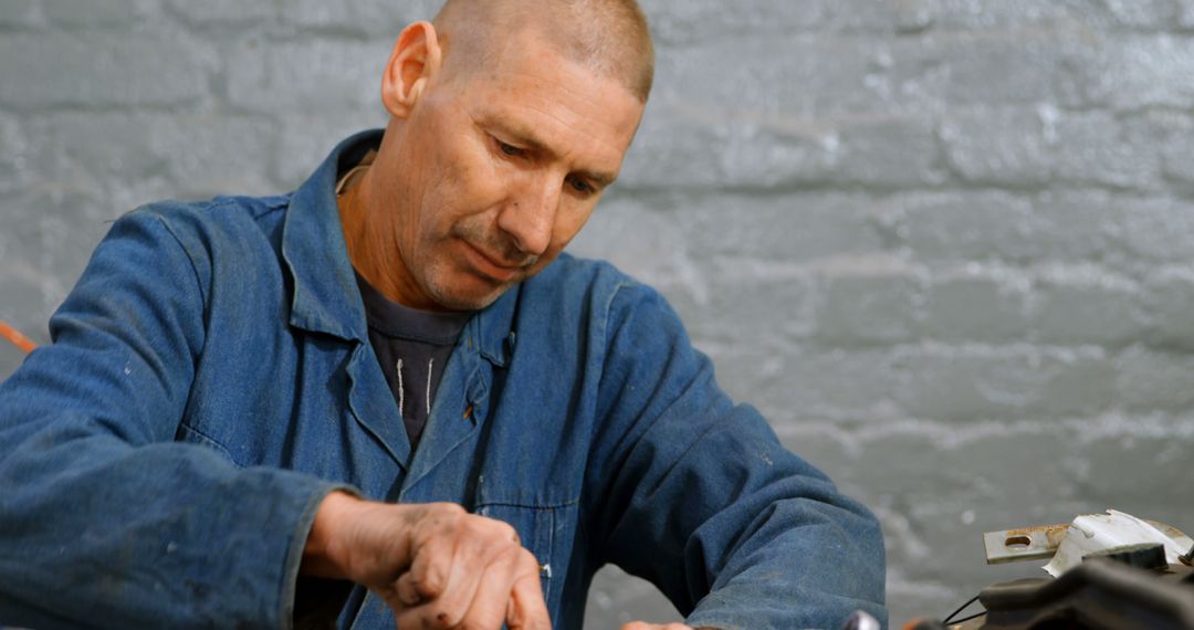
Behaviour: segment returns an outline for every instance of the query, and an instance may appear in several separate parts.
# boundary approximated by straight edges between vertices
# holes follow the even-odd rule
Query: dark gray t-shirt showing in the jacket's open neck
[[[444,365],[472,313],[433,313],[393,302],[357,276],[369,323],[369,344],[402,414],[411,450],[431,414]]]

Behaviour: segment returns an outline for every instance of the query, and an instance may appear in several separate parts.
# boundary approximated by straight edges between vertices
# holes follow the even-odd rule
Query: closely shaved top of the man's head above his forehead
[[[651,93],[654,49],[635,0],[447,0],[433,24],[451,72],[484,69],[531,36],[642,103]]]

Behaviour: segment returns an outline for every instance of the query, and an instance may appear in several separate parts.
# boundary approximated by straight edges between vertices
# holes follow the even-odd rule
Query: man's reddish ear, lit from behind
[[[443,51],[436,27],[416,21],[398,36],[381,80],[381,101],[395,118],[410,116],[431,76],[439,70]]]

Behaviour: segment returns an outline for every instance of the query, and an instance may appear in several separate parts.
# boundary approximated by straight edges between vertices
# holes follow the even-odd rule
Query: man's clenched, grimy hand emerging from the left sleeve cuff
[[[328,494],[300,572],[364,585],[401,628],[549,629],[538,563],[510,525],[455,504]]]

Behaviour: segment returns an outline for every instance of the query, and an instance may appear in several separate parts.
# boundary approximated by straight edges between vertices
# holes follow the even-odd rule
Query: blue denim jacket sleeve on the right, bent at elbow
[[[657,292],[622,285],[608,322],[598,413],[617,438],[590,477],[602,560],[694,628],[837,629],[856,610],[886,625],[874,515],[718,388]]]

